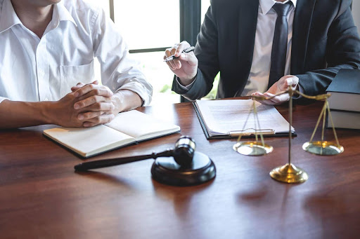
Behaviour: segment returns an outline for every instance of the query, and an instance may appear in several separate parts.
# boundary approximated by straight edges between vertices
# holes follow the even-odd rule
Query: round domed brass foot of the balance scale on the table
[[[307,172],[301,168],[297,168],[293,163],[286,163],[283,166],[279,166],[271,170],[270,177],[279,182],[285,182],[288,184],[298,184],[307,181],[309,176]]]

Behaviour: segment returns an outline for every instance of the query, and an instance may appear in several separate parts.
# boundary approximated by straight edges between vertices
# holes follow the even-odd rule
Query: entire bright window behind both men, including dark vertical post
[[[179,43],[182,39],[195,43],[200,29],[198,15],[203,22],[210,0],[85,0],[101,6],[113,18],[127,42],[132,57],[141,62],[143,72],[153,85],[151,104],[170,104],[180,102],[180,97],[171,90],[174,74],[162,62],[165,49]],[[193,4],[197,7],[193,7]],[[198,5],[196,5],[198,4]],[[181,6],[182,11],[181,11]],[[181,14],[191,18],[182,18]],[[190,14],[190,15],[189,15]],[[189,19],[191,21],[189,22]],[[182,29],[181,29],[182,27]],[[193,31],[188,34],[188,29]],[[181,34],[182,31],[182,34]],[[100,79],[100,67],[95,65],[96,78]],[[214,97],[216,87],[208,97]]]

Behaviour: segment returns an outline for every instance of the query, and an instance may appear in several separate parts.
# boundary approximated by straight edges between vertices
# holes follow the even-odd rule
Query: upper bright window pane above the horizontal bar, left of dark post
[[[179,0],[116,0],[114,17],[131,50],[179,42]]]

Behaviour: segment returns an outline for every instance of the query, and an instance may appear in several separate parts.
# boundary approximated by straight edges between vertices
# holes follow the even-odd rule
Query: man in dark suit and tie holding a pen
[[[360,67],[351,3],[212,0],[195,54],[181,53],[190,46],[186,41],[165,52],[165,57],[178,57],[167,62],[176,75],[172,90],[200,99],[220,71],[218,98],[271,96],[290,85],[307,95],[324,93],[339,69]],[[288,99],[282,95],[264,103]]]

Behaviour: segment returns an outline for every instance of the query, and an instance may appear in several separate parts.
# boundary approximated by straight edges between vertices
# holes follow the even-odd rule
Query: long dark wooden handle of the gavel
[[[142,161],[144,159],[149,159],[149,158],[155,159],[158,157],[169,157],[169,156],[173,156],[172,149],[168,149],[168,150],[160,152],[160,153],[151,153],[151,154],[141,155],[141,156],[124,157],[124,158],[110,158],[110,159],[103,159],[103,160],[99,160],[99,161],[85,162],[85,163],[80,163],[78,165],[75,165],[74,168],[75,168],[75,171],[86,171],[86,170],[91,170],[94,168],[105,168],[105,167],[110,167],[110,166],[115,166],[115,165],[120,165],[120,164],[125,164],[125,163]]]

